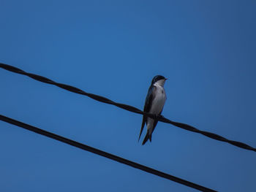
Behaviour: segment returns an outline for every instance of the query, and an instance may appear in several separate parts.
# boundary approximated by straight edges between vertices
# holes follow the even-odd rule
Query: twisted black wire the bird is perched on
[[[18,74],[26,75],[26,76],[31,77],[34,80],[38,80],[40,82],[45,82],[45,83],[48,83],[48,84],[56,85],[59,88],[63,88],[65,90],[71,91],[73,93],[78,93],[78,94],[81,94],[81,95],[84,95],[84,96],[89,96],[91,99],[95,99],[95,100],[101,101],[103,103],[115,105],[116,107],[120,107],[121,109],[130,111],[130,112],[143,114],[143,115],[146,115],[150,118],[154,118],[154,119],[157,119],[157,120],[165,122],[165,123],[170,123],[173,126],[177,126],[179,128],[186,129],[187,131],[193,131],[193,132],[196,132],[198,134],[203,134],[204,136],[210,137],[211,139],[216,139],[216,140],[219,140],[219,141],[222,141],[222,142],[227,142],[227,143],[230,143],[231,145],[235,145],[236,147],[241,147],[241,148],[246,149],[246,150],[256,151],[255,147],[251,147],[249,145],[246,145],[243,142],[236,142],[236,141],[233,141],[233,140],[229,140],[229,139],[226,139],[225,137],[219,136],[218,134],[213,134],[213,133],[208,132],[208,131],[201,131],[201,130],[193,127],[193,126],[189,126],[189,125],[184,124],[184,123],[178,123],[178,122],[175,122],[173,120],[168,120],[167,118],[164,118],[162,115],[157,116],[157,115],[149,114],[149,113],[146,113],[146,112],[143,112],[143,111],[139,110],[136,107],[132,107],[132,106],[127,105],[127,104],[116,103],[115,101],[107,99],[103,96],[98,96],[98,95],[95,95],[95,94],[92,94],[92,93],[86,93],[85,91],[82,91],[79,88],[75,88],[71,85],[65,85],[65,84],[62,84],[62,83],[59,83],[59,82],[54,82],[53,80],[50,80],[46,77],[42,77],[42,76],[39,76],[37,74],[31,74],[31,73],[24,72],[23,70],[18,69],[14,66],[10,66],[10,65],[7,65],[7,64],[1,64],[0,63],[0,67],[2,69],[8,70],[10,72],[15,72],[15,73],[18,73]]]

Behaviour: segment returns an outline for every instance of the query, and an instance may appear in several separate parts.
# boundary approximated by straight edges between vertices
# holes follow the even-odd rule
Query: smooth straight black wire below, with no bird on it
[[[59,136],[57,134],[50,133],[48,131],[42,130],[41,128],[30,126],[30,125],[28,125],[26,123],[22,123],[22,122],[20,122],[18,120],[14,120],[12,118],[7,118],[4,115],[0,115],[0,120],[3,120],[5,122],[7,122],[7,123],[11,123],[12,125],[15,125],[15,126],[19,126],[21,128],[25,128],[25,129],[27,129],[29,131],[34,131],[37,134],[41,134],[41,135],[44,135],[46,137],[50,137],[50,138],[58,140],[60,142],[67,143],[68,145],[72,145],[74,147],[78,147],[78,148],[80,148],[82,150],[87,150],[87,151],[89,151],[91,153],[95,153],[97,155],[101,155],[101,156],[103,156],[105,158],[110,158],[113,161],[118,161],[121,164],[126,164],[128,166],[132,166],[132,167],[134,167],[136,169],[143,170],[144,172],[155,174],[155,175],[157,175],[159,177],[164,177],[167,180],[172,180],[172,181],[174,181],[176,183],[180,183],[182,185],[187,185],[188,187],[195,188],[195,189],[197,189],[199,191],[211,191],[211,192],[214,191],[214,190],[212,190],[210,188],[206,188],[206,187],[203,187],[201,185],[197,185],[195,183],[191,183],[191,182],[189,182],[187,180],[182,180],[181,178],[175,177],[173,175],[170,175],[170,174],[167,174],[167,173],[164,173],[164,172],[159,172],[158,170],[152,169],[152,168],[150,168],[148,166],[143,166],[142,164],[137,164],[137,163],[135,163],[133,161],[129,161],[129,160],[125,159],[125,158],[121,158],[121,157],[118,157],[116,155],[113,155],[113,154],[110,154],[110,153],[106,153],[105,151],[98,150],[98,149],[96,149],[94,147],[90,147],[88,145],[84,145],[84,144],[82,144],[80,142],[75,142],[75,141],[73,141],[71,139],[67,139],[67,138],[61,137],[61,136]]]

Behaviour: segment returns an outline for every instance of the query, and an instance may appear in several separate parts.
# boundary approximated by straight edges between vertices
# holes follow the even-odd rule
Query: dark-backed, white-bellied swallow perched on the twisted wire
[[[165,100],[167,99],[164,88],[165,80],[167,79],[162,75],[156,75],[153,78],[151,85],[148,88],[148,94],[146,96],[143,112],[161,115],[163,107],[165,105]],[[157,126],[157,122],[158,120],[148,118],[146,115],[143,115],[143,120],[140,128],[140,136],[142,134],[145,123],[147,127],[147,133],[145,138],[143,139],[142,145],[144,145],[148,141],[148,139],[151,142],[152,133],[154,131],[154,128]],[[138,141],[140,140],[140,136]]]

